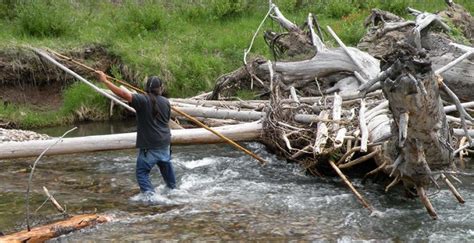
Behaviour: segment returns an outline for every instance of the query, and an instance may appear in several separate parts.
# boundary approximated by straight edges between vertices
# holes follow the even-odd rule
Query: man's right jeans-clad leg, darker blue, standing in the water
[[[160,169],[161,176],[166,182],[166,186],[170,189],[176,188],[176,178],[174,175],[173,164],[171,163],[170,147],[165,146],[159,149],[150,150],[152,152],[157,166]]]

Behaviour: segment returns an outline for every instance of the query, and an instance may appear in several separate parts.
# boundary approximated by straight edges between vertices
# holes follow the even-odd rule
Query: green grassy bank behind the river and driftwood
[[[471,0],[456,2],[471,12],[474,9]],[[401,15],[405,15],[407,6],[426,11],[445,8],[443,0],[274,0],[274,3],[297,24],[305,20],[307,13],[317,14],[321,25],[331,25],[347,45],[356,45],[364,34],[362,23],[371,8]],[[121,4],[95,0],[3,0],[0,48],[31,45],[68,50],[100,44],[139,72],[140,77],[162,76],[170,96],[186,97],[210,90],[218,76],[242,65],[243,51],[265,15],[267,4],[266,0],[142,0]],[[263,27],[264,30],[277,28],[271,21]],[[261,35],[252,53],[270,57]],[[80,95],[66,90],[63,107],[56,112],[33,114],[36,112],[33,108],[17,107],[17,112],[3,108],[0,113],[5,119],[19,117],[14,120],[36,126],[53,120],[70,121],[78,107],[106,112],[106,106],[86,104]],[[68,106],[68,99],[77,103]],[[95,99],[100,100],[89,98]],[[24,117],[18,115],[21,109],[44,121],[21,118]]]

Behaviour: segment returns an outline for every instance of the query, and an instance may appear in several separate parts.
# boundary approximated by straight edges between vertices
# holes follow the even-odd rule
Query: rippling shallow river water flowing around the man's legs
[[[42,132],[59,136],[69,128]],[[131,123],[83,125],[73,135],[125,132]],[[158,170],[153,205],[136,201],[135,150],[44,157],[35,172],[32,211],[44,201],[46,186],[71,214],[98,212],[106,224],[61,236],[52,242],[132,240],[324,240],[474,241],[474,179],[460,177],[466,204],[443,188],[432,189],[439,219],[433,221],[418,200],[399,189],[361,184],[351,178],[380,213],[370,216],[338,178],[316,178],[268,154],[258,143],[245,143],[270,163],[255,160],[227,145],[173,147],[178,190],[164,189]],[[0,231],[25,225],[27,168],[34,158],[0,161]],[[468,172],[473,172],[470,168]],[[34,223],[60,216],[47,203]]]

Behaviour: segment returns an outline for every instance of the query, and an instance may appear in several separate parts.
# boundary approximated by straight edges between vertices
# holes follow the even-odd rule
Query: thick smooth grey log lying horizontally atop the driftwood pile
[[[379,61],[361,52],[355,48],[349,50],[358,59],[358,62],[364,67],[369,77],[375,77],[379,73]],[[223,95],[233,95],[236,87],[242,87],[242,83],[249,82],[250,76],[245,75],[246,70],[254,73],[260,80],[270,80],[270,72],[266,61],[255,60],[251,66],[242,67],[229,75],[219,78],[210,99],[217,99]],[[277,79],[281,80],[281,86],[286,93],[289,93],[290,87],[297,89],[303,96],[320,95],[318,84],[315,79],[321,82],[322,89],[325,90],[334,85],[334,83],[347,78],[353,77],[354,71],[359,70],[356,64],[347,56],[342,48],[328,49],[318,53],[309,60],[295,62],[276,62],[273,71]],[[264,81],[265,87],[270,85]],[[349,83],[355,83],[356,86],[347,90],[345,87],[350,86]],[[249,85],[245,85],[249,87]],[[357,79],[353,77],[341,83],[334,91],[341,91],[341,95],[354,93],[357,90]]]

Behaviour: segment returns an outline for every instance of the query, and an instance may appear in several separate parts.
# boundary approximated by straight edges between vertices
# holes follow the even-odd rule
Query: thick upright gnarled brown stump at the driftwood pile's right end
[[[394,167],[405,184],[423,188],[431,181],[432,169],[454,166],[451,134],[438,79],[431,63],[408,46],[400,46],[398,52],[385,60],[392,64],[390,67],[394,67],[395,60],[402,64],[396,65],[382,81],[396,122],[394,132],[402,156],[401,163]]]

